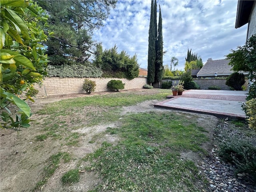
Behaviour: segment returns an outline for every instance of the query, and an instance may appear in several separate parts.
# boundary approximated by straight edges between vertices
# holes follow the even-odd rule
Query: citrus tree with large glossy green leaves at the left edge
[[[30,126],[31,100],[47,75],[44,41],[48,36],[45,11],[28,0],[0,0],[0,97],[1,128],[20,130]],[[50,33],[49,33],[50,35]],[[18,109],[18,110],[17,110]]]

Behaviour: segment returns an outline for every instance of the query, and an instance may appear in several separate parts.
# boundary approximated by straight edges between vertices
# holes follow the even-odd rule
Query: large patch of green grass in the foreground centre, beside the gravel
[[[88,170],[100,173],[103,182],[95,191],[201,191],[204,180],[195,164],[182,160],[180,152],[204,152],[206,131],[171,113],[139,113],[126,116],[121,128],[108,128],[124,140],[102,148],[84,160]]]

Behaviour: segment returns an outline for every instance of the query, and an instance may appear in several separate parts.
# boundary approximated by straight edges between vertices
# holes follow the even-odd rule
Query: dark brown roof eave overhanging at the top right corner
[[[235,25],[236,29],[249,22],[254,2],[254,0],[238,0]]]

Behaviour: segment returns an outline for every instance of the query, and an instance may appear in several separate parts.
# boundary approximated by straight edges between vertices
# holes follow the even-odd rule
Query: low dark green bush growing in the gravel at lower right
[[[218,155],[236,166],[236,173],[248,173],[256,181],[256,146],[248,141],[228,141],[220,146]]]

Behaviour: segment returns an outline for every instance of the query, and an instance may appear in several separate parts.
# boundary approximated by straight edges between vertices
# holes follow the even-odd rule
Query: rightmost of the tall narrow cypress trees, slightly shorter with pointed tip
[[[159,5],[159,20],[158,20],[158,40],[157,40],[157,54],[156,54],[156,76],[155,83],[162,81],[162,76],[164,73],[163,66],[163,33],[162,33],[162,14]]]

